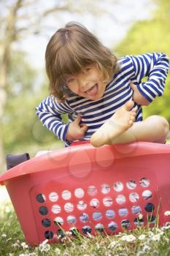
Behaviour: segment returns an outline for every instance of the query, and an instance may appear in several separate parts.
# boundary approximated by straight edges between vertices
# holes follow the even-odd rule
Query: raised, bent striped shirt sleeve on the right
[[[164,53],[146,53],[139,56],[129,56],[134,67],[134,76],[140,93],[152,102],[156,96],[163,94],[166,77],[169,71],[169,57]],[[147,76],[147,82],[141,80]]]

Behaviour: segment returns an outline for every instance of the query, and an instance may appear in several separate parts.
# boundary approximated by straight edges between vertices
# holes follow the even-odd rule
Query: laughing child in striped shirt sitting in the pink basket
[[[66,146],[75,140],[90,140],[93,146],[165,142],[165,118],[142,121],[142,105],[163,94],[169,70],[165,54],[117,60],[90,31],[73,22],[53,34],[45,59],[50,96],[40,102],[36,115]],[[63,113],[69,114],[69,124],[63,124]]]

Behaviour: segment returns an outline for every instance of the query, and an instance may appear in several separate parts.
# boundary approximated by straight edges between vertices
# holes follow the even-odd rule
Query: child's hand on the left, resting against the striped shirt
[[[70,125],[66,134],[66,140],[78,140],[85,135],[88,127],[86,124],[80,124],[81,116],[78,116]]]

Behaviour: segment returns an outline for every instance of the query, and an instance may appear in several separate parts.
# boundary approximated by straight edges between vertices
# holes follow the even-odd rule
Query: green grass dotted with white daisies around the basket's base
[[[11,203],[2,203],[0,211],[0,255],[83,255],[127,256],[170,255],[170,223],[165,227],[138,227],[115,236],[89,236],[80,234],[71,239],[67,234],[58,244],[43,243],[37,247],[26,244]]]

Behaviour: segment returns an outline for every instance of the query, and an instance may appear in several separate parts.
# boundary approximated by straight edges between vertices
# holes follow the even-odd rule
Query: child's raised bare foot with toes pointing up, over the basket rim
[[[93,133],[90,143],[95,147],[111,144],[110,141],[131,127],[136,116],[136,108],[133,108],[133,106],[134,102],[129,100],[119,108],[106,123]]]

